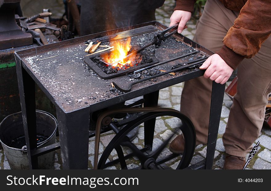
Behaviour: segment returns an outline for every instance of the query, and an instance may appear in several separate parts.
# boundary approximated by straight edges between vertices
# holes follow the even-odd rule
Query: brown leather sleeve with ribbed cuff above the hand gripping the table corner
[[[240,11],[234,25],[223,39],[227,48],[222,47],[217,53],[232,68],[236,68],[241,59],[251,58],[261,48],[261,44],[271,34],[271,1],[248,0]],[[237,54],[237,55],[236,55]],[[239,56],[239,58],[241,58]],[[236,59],[236,61],[234,61]]]

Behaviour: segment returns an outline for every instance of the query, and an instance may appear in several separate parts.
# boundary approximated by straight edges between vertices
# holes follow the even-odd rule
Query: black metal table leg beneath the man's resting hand
[[[213,81],[205,169],[212,169],[226,84]]]

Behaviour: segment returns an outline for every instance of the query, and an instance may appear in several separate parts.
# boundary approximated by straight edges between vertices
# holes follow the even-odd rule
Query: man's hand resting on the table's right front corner
[[[210,56],[200,69],[207,69],[203,75],[204,78],[210,78],[210,80],[221,84],[226,83],[233,73],[233,69],[218,54]]]

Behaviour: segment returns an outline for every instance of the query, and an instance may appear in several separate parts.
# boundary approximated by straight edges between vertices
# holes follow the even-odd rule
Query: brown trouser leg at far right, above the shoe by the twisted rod
[[[223,135],[225,150],[230,155],[246,156],[260,134],[271,92],[270,52],[269,37],[253,58],[238,66],[237,94]]]

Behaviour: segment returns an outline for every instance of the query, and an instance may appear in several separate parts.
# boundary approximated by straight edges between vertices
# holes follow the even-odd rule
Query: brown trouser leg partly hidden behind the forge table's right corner
[[[223,38],[238,13],[226,9],[218,1],[207,1],[197,24],[194,40],[215,52],[223,46]],[[207,144],[212,81],[199,77],[184,83],[181,112],[188,116],[196,129],[197,144]]]

